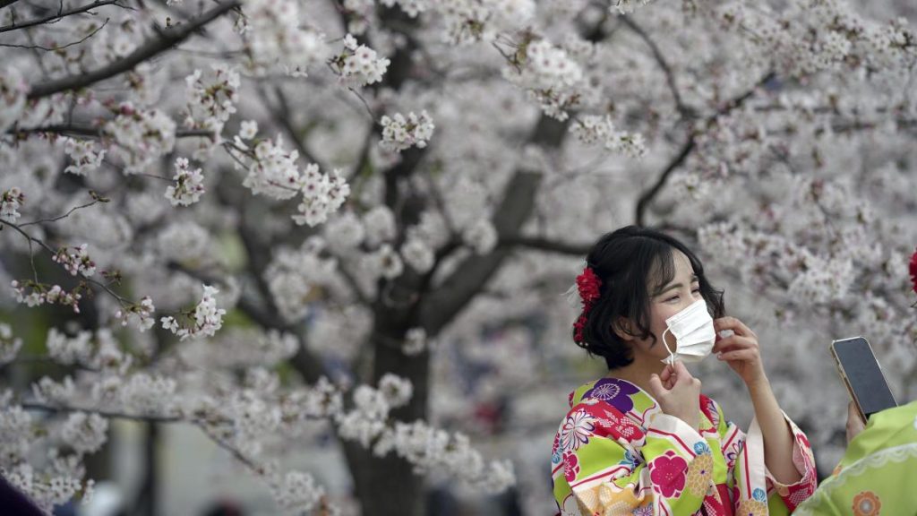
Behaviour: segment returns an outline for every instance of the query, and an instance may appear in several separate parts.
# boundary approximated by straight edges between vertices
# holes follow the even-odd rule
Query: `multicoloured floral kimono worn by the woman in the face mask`
[[[562,516],[789,514],[815,490],[812,448],[789,418],[802,478],[785,485],[764,464],[757,420],[746,435],[706,396],[699,431],[617,378],[578,387],[569,406],[551,456]]]

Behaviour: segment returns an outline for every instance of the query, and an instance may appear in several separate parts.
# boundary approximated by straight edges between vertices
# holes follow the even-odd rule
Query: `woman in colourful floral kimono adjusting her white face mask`
[[[569,394],[552,451],[560,514],[787,514],[810,497],[808,440],[774,398],[757,336],[724,317],[697,257],[627,227],[596,242],[586,263],[574,341],[609,371]],[[748,388],[747,436],[683,364],[711,352]]]

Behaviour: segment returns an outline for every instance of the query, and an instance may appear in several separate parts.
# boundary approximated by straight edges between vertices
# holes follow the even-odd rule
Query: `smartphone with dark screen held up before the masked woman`
[[[898,406],[866,339],[853,337],[831,342],[831,354],[864,423],[879,410]]]

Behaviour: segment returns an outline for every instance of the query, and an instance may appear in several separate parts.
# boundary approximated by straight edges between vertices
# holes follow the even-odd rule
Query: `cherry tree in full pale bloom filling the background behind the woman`
[[[0,0],[0,470],[50,509],[110,421],[185,424],[337,513],[284,461],[330,433],[363,514],[543,513],[600,374],[561,294],[629,223],[698,247],[830,470],[827,343],[917,395],[913,9]]]

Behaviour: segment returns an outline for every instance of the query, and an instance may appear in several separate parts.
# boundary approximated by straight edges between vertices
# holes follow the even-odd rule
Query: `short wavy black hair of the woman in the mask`
[[[724,316],[723,291],[710,285],[701,261],[681,241],[637,226],[606,233],[586,257],[586,264],[602,279],[602,286],[583,328],[582,342],[577,345],[590,355],[602,356],[609,369],[634,362],[631,345],[613,330],[618,318],[630,321],[630,334],[640,339],[652,337],[651,345],[656,344],[657,336],[649,330],[650,292],[675,277],[673,250],[683,252],[691,261],[713,318]],[[654,285],[647,284],[650,275],[658,275]]]

